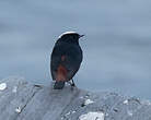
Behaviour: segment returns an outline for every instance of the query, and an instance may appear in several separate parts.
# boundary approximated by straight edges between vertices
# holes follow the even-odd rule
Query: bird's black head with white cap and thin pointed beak
[[[66,32],[66,33],[62,33],[59,36],[58,40],[67,41],[67,43],[79,43],[79,38],[81,38],[84,35],[80,35],[80,34],[78,34],[76,32]]]

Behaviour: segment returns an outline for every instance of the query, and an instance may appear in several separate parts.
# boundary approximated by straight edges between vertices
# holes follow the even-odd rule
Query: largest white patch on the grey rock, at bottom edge
[[[79,117],[79,120],[104,120],[103,112],[88,112]]]

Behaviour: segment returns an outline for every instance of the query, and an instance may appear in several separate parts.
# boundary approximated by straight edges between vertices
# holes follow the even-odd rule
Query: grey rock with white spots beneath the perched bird
[[[5,84],[2,88],[2,84]],[[116,93],[53,89],[22,77],[0,81],[0,120],[151,120],[151,103]],[[102,118],[81,117],[101,112]]]

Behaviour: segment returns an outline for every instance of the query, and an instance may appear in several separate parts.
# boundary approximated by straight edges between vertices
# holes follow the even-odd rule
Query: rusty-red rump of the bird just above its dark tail
[[[61,64],[57,69],[56,81],[67,81],[67,69]]]

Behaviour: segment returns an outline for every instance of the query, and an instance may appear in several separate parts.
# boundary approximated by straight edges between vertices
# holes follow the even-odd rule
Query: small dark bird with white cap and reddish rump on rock
[[[79,39],[83,36],[77,32],[66,32],[55,43],[50,56],[50,72],[53,81],[55,81],[54,89],[62,89],[66,82],[76,86],[73,76],[79,71],[83,60]]]

